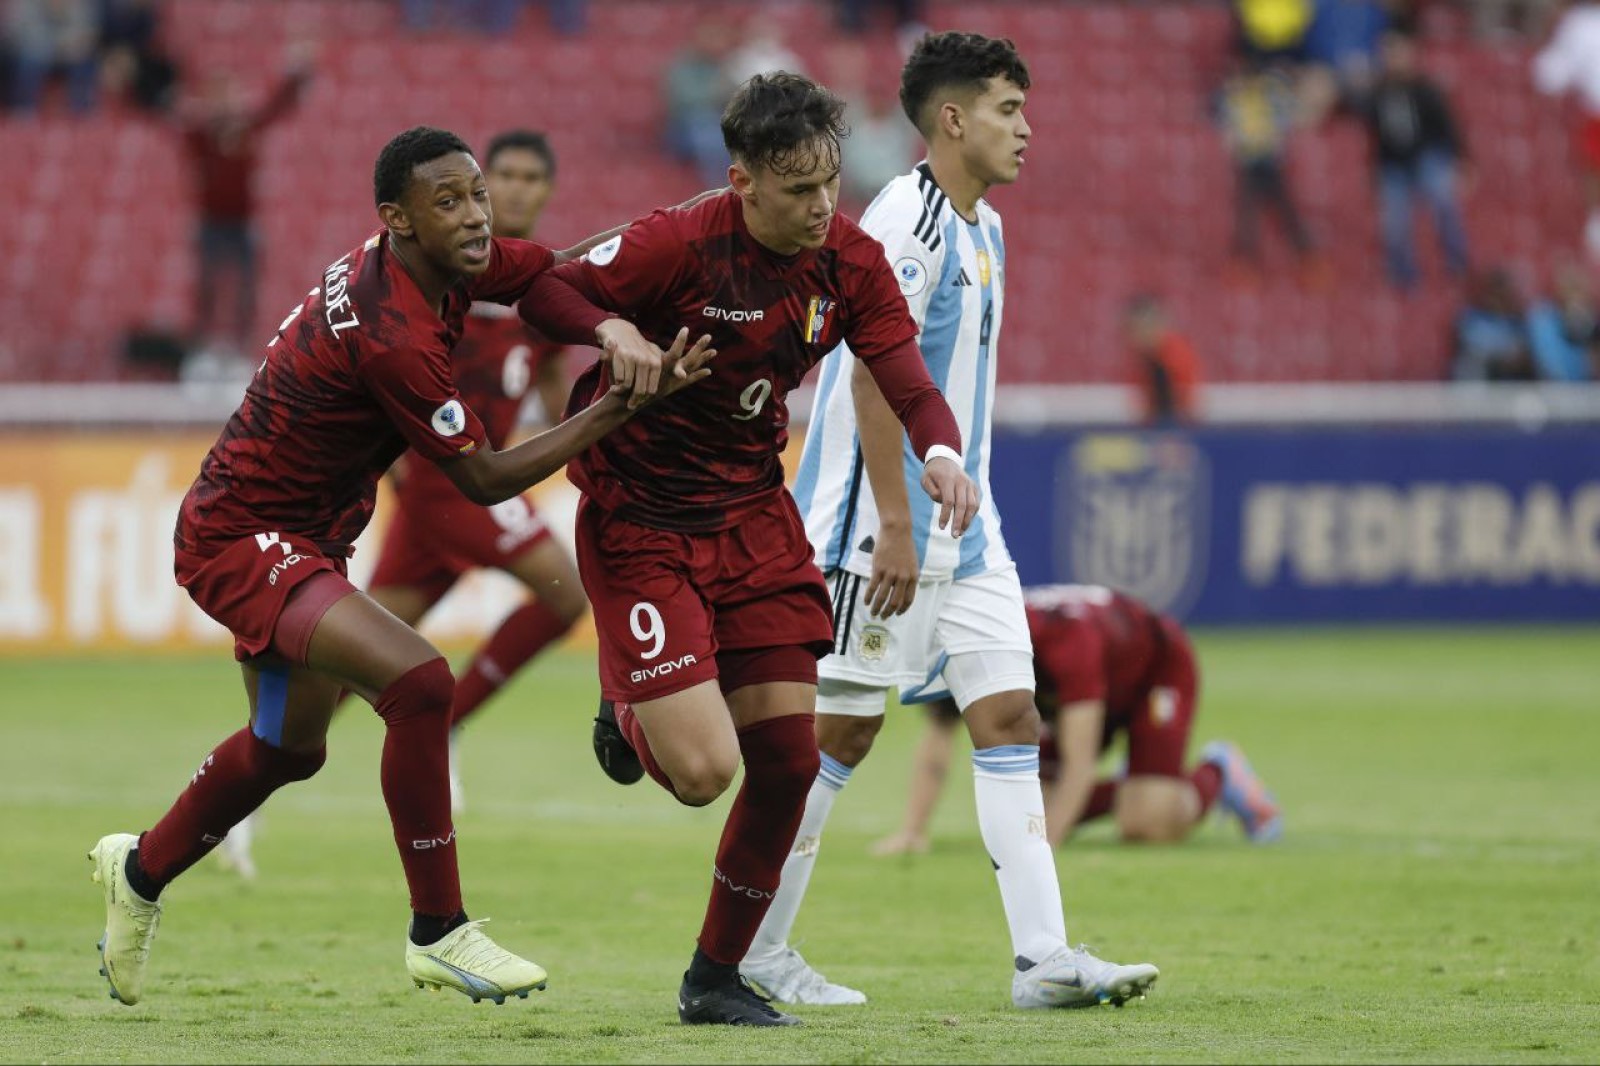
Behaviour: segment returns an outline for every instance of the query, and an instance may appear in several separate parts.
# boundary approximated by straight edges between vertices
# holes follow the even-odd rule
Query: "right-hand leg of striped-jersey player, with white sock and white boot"
[[[946,677],[982,669],[974,656],[950,656]],[[973,736],[978,828],[995,868],[1011,930],[1018,1007],[1122,1005],[1142,996],[1160,972],[1149,964],[1115,965],[1067,944],[1054,850],[1045,837],[1038,784],[1038,711],[1029,690],[973,699],[963,711]]]

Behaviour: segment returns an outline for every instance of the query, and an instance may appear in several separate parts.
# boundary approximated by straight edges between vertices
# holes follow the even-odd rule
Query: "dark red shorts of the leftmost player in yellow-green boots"
[[[322,611],[355,592],[342,559],[330,559],[291,533],[258,533],[218,551],[178,549],[173,570],[189,599],[234,634],[234,658],[240,663],[272,650],[302,666],[306,640]],[[330,578],[317,581],[315,610],[299,611],[304,624],[296,626],[293,639],[275,640],[285,635],[277,631],[290,594],[317,575]]]

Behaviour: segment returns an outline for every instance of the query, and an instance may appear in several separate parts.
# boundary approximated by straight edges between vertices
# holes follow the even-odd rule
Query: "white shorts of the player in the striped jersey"
[[[835,570],[827,579],[834,653],[818,663],[819,714],[880,715],[890,688],[920,690],[910,703],[934,699],[947,687],[962,709],[997,691],[1034,691],[1034,647],[1016,567],[923,581],[910,610],[893,618],[869,616],[867,578]]]

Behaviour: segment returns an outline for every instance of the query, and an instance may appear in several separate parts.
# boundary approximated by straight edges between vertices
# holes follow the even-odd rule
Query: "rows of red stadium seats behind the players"
[[[525,16],[504,38],[408,34],[387,0],[184,0],[168,35],[189,77],[214,66],[256,91],[293,38],[323,42],[301,110],[269,133],[261,173],[262,341],[331,258],[374,226],[378,147],[414,125],[474,142],[541,126],[562,154],[544,237],[565,243],[694,192],[658,150],[659,75],[688,27],[725,3],[592,5],[589,30],[555,37]],[[835,30],[824,6],[763,5],[819,75]],[[1221,282],[1232,178],[1206,101],[1227,50],[1222,5],[934,3],[933,24],[1014,37],[1035,72],[1035,147],[1005,213],[1006,381],[1114,381],[1118,320],[1136,290],[1165,296],[1211,379],[1432,379],[1443,373],[1456,291],[1424,226],[1424,287],[1384,283],[1365,139],[1349,122],[1299,136],[1293,173],[1334,282],[1304,291],[1282,271],[1259,288]],[[1464,115],[1478,179],[1467,198],[1482,262],[1542,277],[1578,245],[1582,208],[1560,106],[1528,77],[1526,43],[1475,43],[1448,11],[1429,26],[1426,67]],[[894,64],[893,42],[872,42]],[[154,118],[0,120],[0,195],[11,232],[0,262],[0,379],[126,378],[122,336],[182,327],[194,287],[189,182],[176,133]],[[48,269],[45,269],[48,264]]]

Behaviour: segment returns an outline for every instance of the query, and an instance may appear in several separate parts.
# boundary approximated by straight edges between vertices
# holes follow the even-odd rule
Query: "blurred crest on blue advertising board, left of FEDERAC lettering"
[[[1086,434],[1059,464],[1056,573],[1187,610],[1205,583],[1205,455],[1176,434]]]

